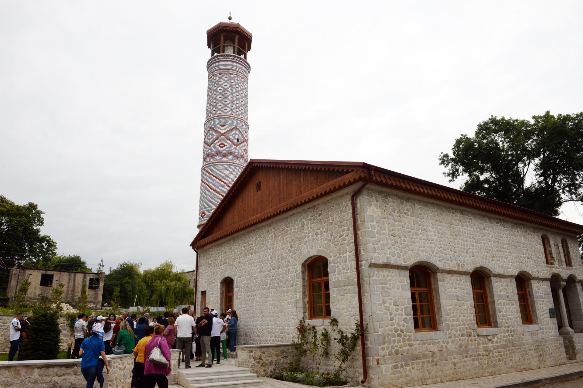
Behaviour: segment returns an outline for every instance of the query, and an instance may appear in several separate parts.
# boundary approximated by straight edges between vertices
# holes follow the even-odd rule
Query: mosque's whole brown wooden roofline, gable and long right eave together
[[[583,225],[366,163],[253,160],[191,243],[201,248],[359,181],[583,235]]]

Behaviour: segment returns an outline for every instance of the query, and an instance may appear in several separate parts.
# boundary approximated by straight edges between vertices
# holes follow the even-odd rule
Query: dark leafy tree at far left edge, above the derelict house
[[[12,267],[55,255],[57,243],[40,231],[43,214],[35,203],[19,205],[0,195],[0,296],[6,295]]]

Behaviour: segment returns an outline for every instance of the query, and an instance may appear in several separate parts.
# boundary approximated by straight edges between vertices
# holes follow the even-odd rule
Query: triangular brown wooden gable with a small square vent
[[[268,220],[364,179],[366,174],[367,169],[362,163],[301,164],[251,160],[203,225],[192,246],[198,248],[210,244]]]

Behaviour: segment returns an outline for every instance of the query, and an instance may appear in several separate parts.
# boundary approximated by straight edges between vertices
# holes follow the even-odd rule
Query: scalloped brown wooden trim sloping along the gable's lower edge
[[[306,193],[303,193],[302,195],[290,199],[282,204],[279,204],[276,207],[272,207],[272,209],[266,210],[263,213],[258,214],[257,216],[248,218],[245,221],[241,221],[240,223],[233,225],[232,227],[222,230],[220,232],[217,232],[213,235],[210,235],[209,237],[203,238],[199,241],[195,241],[193,242],[192,246],[194,246],[194,248],[197,249],[202,248],[205,245],[208,245],[219,239],[225,238],[245,228],[251,227],[252,225],[269,220],[269,218],[279,216],[279,214],[286,213],[286,211],[290,211],[298,206],[302,206],[303,204],[312,202],[313,200],[316,200],[333,192],[339,191],[340,189],[343,189],[346,186],[350,186],[358,181],[366,179],[367,173],[368,173],[367,170],[361,169],[349,172],[348,174],[343,175],[340,178],[336,178],[331,182],[328,182],[322,186],[312,189],[311,191],[308,191]],[[209,221],[207,221],[207,223]]]

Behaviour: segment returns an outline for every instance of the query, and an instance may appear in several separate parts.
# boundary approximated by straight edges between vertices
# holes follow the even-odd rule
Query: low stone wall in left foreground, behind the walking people
[[[178,381],[178,353],[171,350],[173,373],[168,377],[170,384]],[[108,355],[110,374],[104,375],[104,388],[129,388],[134,368],[134,355]],[[0,387],[19,388],[84,388],[85,379],[81,375],[80,359],[47,359],[40,361],[0,362]],[[105,372],[105,371],[104,371]],[[94,388],[99,388],[95,382]]]

